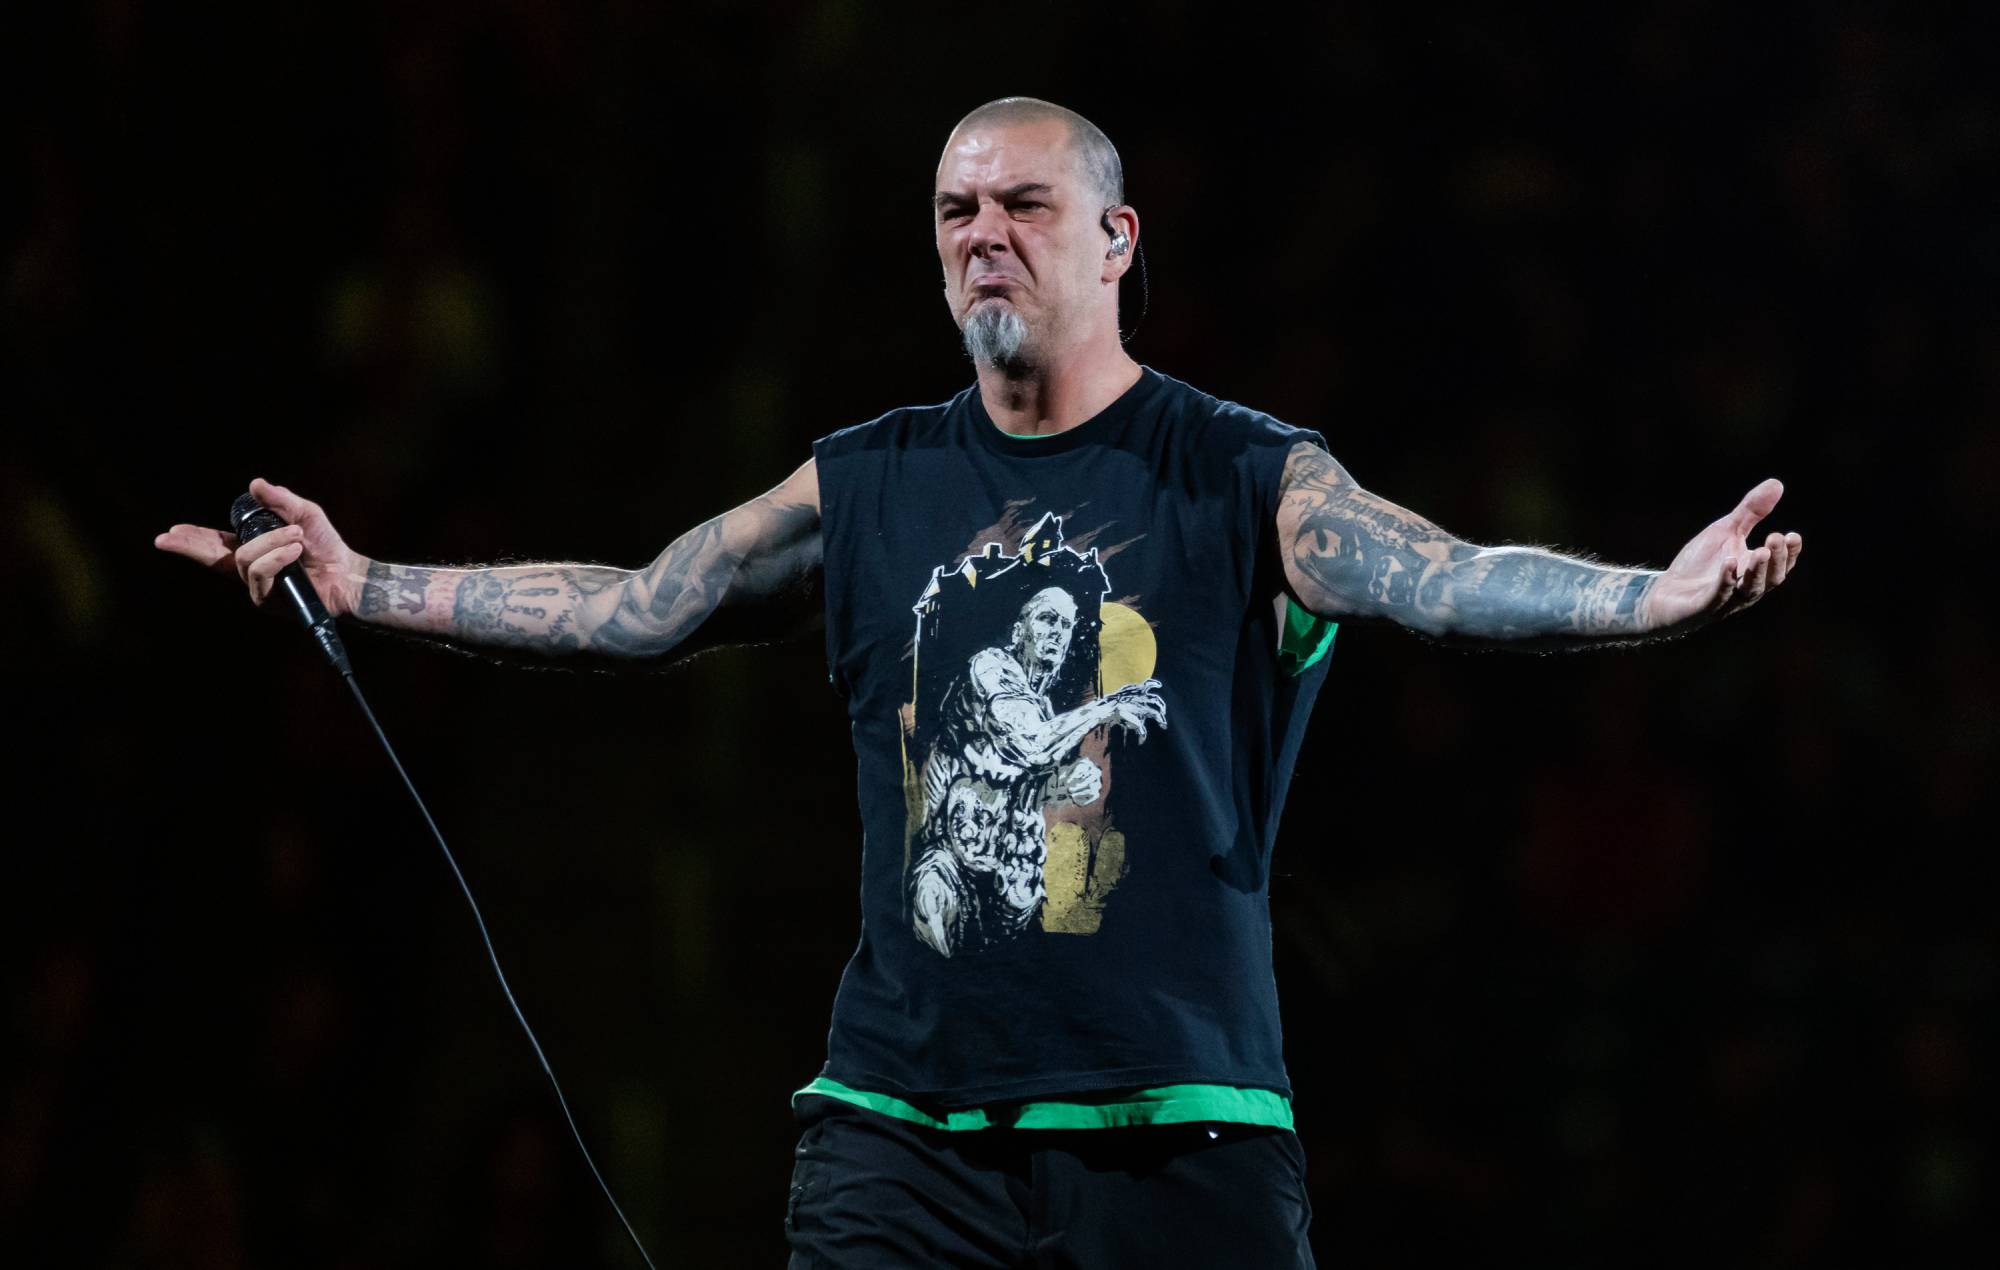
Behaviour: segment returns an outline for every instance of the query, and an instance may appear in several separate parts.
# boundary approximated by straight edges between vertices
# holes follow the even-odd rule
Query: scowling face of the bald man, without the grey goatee
[[[954,134],[934,212],[944,300],[960,328],[976,310],[1008,306],[1026,322],[1032,362],[1088,328],[1094,306],[1116,304],[1104,282],[1104,208],[1082,180],[1068,124]]]

